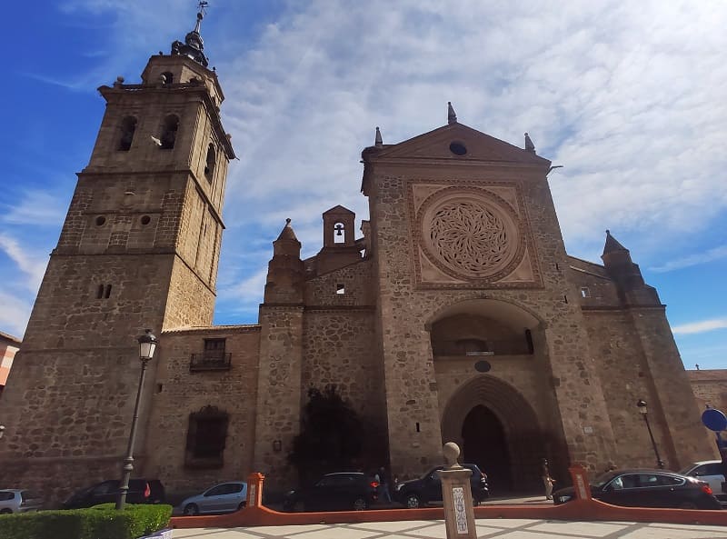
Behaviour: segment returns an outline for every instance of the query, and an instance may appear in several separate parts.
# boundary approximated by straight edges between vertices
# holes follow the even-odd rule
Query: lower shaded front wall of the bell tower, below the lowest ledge
[[[23,484],[62,496],[108,475],[49,476],[48,467],[85,462],[116,475],[138,386],[136,338],[161,328],[164,301],[150,298],[164,298],[171,266],[172,255],[52,257],[0,402],[7,481],[22,473]],[[97,297],[99,284],[111,284],[108,298]],[[150,374],[145,394],[152,385]]]

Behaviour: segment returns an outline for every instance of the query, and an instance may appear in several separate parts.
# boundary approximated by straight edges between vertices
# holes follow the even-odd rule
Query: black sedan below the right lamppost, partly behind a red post
[[[664,470],[607,472],[591,483],[591,495],[606,504],[626,507],[721,508],[709,484]],[[553,493],[553,503],[564,504],[574,497],[573,487],[563,488]]]

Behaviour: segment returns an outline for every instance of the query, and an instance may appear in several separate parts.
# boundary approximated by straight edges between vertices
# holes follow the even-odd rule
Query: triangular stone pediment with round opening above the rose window
[[[450,145],[453,143],[462,145],[466,149],[466,153],[464,155],[453,153],[450,149]],[[550,161],[543,157],[459,123],[444,125],[398,145],[385,146],[382,150],[372,154],[372,157],[376,159],[451,159],[453,161],[550,165]]]

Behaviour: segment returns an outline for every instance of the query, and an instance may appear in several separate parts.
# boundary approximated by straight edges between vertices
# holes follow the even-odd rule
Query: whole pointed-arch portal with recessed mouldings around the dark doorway
[[[463,384],[442,416],[443,442],[463,448],[463,461],[488,474],[493,494],[540,488],[546,438],[523,395],[489,374]]]

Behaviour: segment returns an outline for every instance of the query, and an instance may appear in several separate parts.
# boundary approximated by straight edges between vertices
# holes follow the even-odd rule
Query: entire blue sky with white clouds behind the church
[[[668,5],[667,5],[668,4]],[[194,25],[195,2],[5,6],[0,331],[22,335],[104,111]],[[569,254],[604,230],[656,286],[693,368],[727,366],[727,3],[210,0],[205,52],[224,87],[230,167],[217,324],[256,322],[271,242],[293,219],[304,255],[321,214],[357,218],[361,149],[459,121],[553,164]]]

